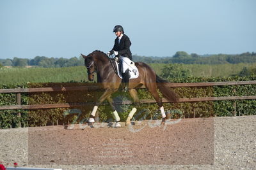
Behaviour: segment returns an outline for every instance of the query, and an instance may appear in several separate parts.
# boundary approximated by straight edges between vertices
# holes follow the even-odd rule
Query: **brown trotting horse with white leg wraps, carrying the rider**
[[[93,81],[94,74],[97,73],[97,83],[101,85],[104,92],[93,107],[90,118],[88,119],[88,125],[93,127],[93,123],[95,122],[95,113],[99,105],[107,99],[113,110],[113,115],[115,116],[115,127],[121,127],[120,117],[111,97],[111,94],[116,92],[122,83],[121,78],[119,78],[119,76],[116,74],[116,69],[118,68],[115,67],[115,60],[111,59],[108,55],[106,55],[106,53],[99,50],[95,50],[87,56],[81,53],[81,56],[84,58],[84,66],[87,68],[88,80]],[[136,89],[144,86],[156,100],[162,115],[161,124],[164,124],[166,114],[164,112],[162,99],[159,97],[157,92],[157,87],[163,96],[169,101],[175,102],[178,100],[179,96],[177,96],[173,90],[167,87],[166,83],[168,83],[168,81],[157,76],[156,72],[150,66],[144,62],[135,62],[135,66],[138,67],[139,76],[138,78],[134,78],[129,81],[129,94],[131,95],[134,103],[138,106],[138,104],[140,104],[140,99],[138,98]],[[136,110],[137,109],[135,107],[132,108],[127,117],[125,125],[131,125],[131,118],[133,117],[134,113],[136,113]]]

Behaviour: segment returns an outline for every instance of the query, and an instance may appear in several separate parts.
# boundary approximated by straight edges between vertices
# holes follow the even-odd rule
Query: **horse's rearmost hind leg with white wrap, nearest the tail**
[[[162,115],[162,124],[164,124],[165,119],[166,119],[166,114],[164,112],[164,106],[162,103],[162,99],[160,98],[160,96],[157,92],[157,85],[156,85],[156,83],[150,83],[146,87],[148,89],[148,92],[150,92],[150,94],[152,94],[152,96],[156,100],[157,105],[159,106],[159,110],[161,111],[161,115]]]

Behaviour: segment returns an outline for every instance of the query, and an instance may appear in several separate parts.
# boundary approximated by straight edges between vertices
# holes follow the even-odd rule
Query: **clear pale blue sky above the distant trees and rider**
[[[133,55],[256,52],[255,0],[0,0],[0,59],[108,52],[115,25]]]

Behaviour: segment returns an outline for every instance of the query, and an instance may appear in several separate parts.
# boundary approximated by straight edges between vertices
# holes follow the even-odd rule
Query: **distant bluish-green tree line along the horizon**
[[[246,52],[241,54],[216,54],[216,55],[198,55],[196,53],[176,52],[172,57],[145,57],[132,55],[132,59],[137,62],[164,63],[164,64],[238,64],[256,62],[255,52]],[[83,57],[72,57],[70,59],[54,58],[45,56],[36,56],[34,59],[0,59],[0,66],[39,66],[39,67],[70,67],[83,66]]]

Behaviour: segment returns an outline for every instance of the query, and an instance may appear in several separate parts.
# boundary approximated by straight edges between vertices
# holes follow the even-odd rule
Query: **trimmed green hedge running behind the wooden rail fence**
[[[246,81],[256,80],[256,77],[227,77],[227,78],[183,78],[169,80],[173,83],[189,82],[213,82],[213,81]],[[84,86],[88,83],[25,83],[22,85],[0,85],[0,89],[14,88],[35,88],[35,87],[67,87],[67,86]],[[91,84],[92,85],[92,84]],[[234,91],[236,89],[236,91]],[[175,92],[180,97],[211,97],[211,96],[256,96],[256,85],[232,85],[232,86],[214,86],[214,87],[180,87],[175,88]],[[52,103],[87,103],[86,106],[76,108],[57,108],[44,110],[2,110],[0,111],[0,128],[18,127],[19,122],[22,127],[33,127],[43,125],[63,125],[68,123],[78,123],[86,121],[93,108],[93,101],[99,99],[102,92],[89,90],[74,92],[40,92],[21,94],[22,104],[52,104]],[[140,99],[153,99],[145,89],[139,89]],[[130,100],[129,94],[116,92],[113,94],[114,101]],[[227,117],[232,116],[235,101],[209,101],[196,103],[165,103],[164,108],[167,112],[172,113],[172,118],[191,117]],[[14,105],[15,94],[0,94],[0,105]],[[133,105],[116,106],[122,121],[125,120]],[[140,104],[136,106],[137,113],[134,119],[157,119],[161,118],[157,104]],[[76,110],[74,110],[76,109]],[[255,115],[256,100],[239,100],[236,101],[237,115]],[[19,117],[18,113],[21,114]],[[69,113],[69,114],[68,114]],[[111,108],[104,102],[99,107],[99,121],[104,122],[113,119]]]

